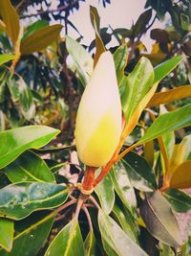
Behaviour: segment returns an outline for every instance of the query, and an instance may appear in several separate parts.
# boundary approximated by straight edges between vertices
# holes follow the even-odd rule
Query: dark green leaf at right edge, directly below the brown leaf
[[[176,212],[185,213],[191,210],[191,197],[178,189],[168,189],[163,192]]]

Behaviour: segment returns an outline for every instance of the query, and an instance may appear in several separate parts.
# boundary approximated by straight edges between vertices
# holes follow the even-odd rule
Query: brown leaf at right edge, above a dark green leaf
[[[181,163],[173,172],[170,187],[178,189],[191,188],[191,160]]]

